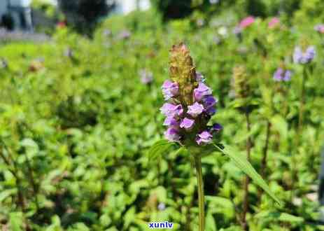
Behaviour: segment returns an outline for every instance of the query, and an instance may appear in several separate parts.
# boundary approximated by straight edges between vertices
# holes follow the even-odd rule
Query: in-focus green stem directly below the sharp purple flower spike
[[[204,181],[202,180],[202,158],[195,157],[195,167],[198,183],[198,204],[199,204],[199,231],[205,230],[205,211],[204,211]]]

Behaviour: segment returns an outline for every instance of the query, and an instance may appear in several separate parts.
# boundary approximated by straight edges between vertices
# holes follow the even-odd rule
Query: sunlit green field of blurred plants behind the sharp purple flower
[[[324,230],[324,25],[300,22],[227,12],[162,23],[149,10],[108,18],[91,39],[60,26],[48,41],[3,41],[0,228],[198,230],[198,148],[204,230]],[[161,141],[165,94],[182,94],[165,80],[188,71],[174,66],[178,48],[217,99],[204,124],[219,124],[213,147],[170,130],[178,142]],[[242,156],[269,188],[246,179]]]

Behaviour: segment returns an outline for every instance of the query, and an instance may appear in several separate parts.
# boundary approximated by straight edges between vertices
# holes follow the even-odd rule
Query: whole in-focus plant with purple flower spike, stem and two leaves
[[[167,126],[167,131],[164,132],[167,141],[157,141],[150,148],[148,155],[156,157],[167,151],[172,144],[179,144],[181,148],[185,148],[192,154],[197,173],[199,231],[204,231],[204,183],[201,158],[213,151],[227,155],[237,167],[280,204],[246,157],[227,153],[224,151],[223,144],[217,142],[220,141],[219,134],[223,127],[218,123],[209,125],[209,120],[216,113],[218,101],[213,97],[212,90],[206,85],[202,74],[195,71],[190,51],[184,43],[171,48],[169,73],[171,80],[165,80],[162,85],[162,93],[167,102],[160,109],[166,116],[163,125]]]

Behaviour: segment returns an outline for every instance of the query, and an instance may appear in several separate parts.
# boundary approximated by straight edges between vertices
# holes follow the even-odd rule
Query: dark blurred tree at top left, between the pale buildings
[[[59,0],[59,8],[69,25],[82,34],[91,35],[99,18],[115,7],[114,0]]]

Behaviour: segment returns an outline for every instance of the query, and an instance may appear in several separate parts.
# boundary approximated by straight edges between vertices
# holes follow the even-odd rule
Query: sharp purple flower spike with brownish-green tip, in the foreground
[[[167,126],[164,137],[184,146],[209,144],[212,134],[221,129],[220,125],[208,125],[218,101],[204,83],[202,73],[195,71],[183,43],[172,46],[169,64],[170,80],[161,87],[167,101],[160,109],[165,116],[163,125]]]

